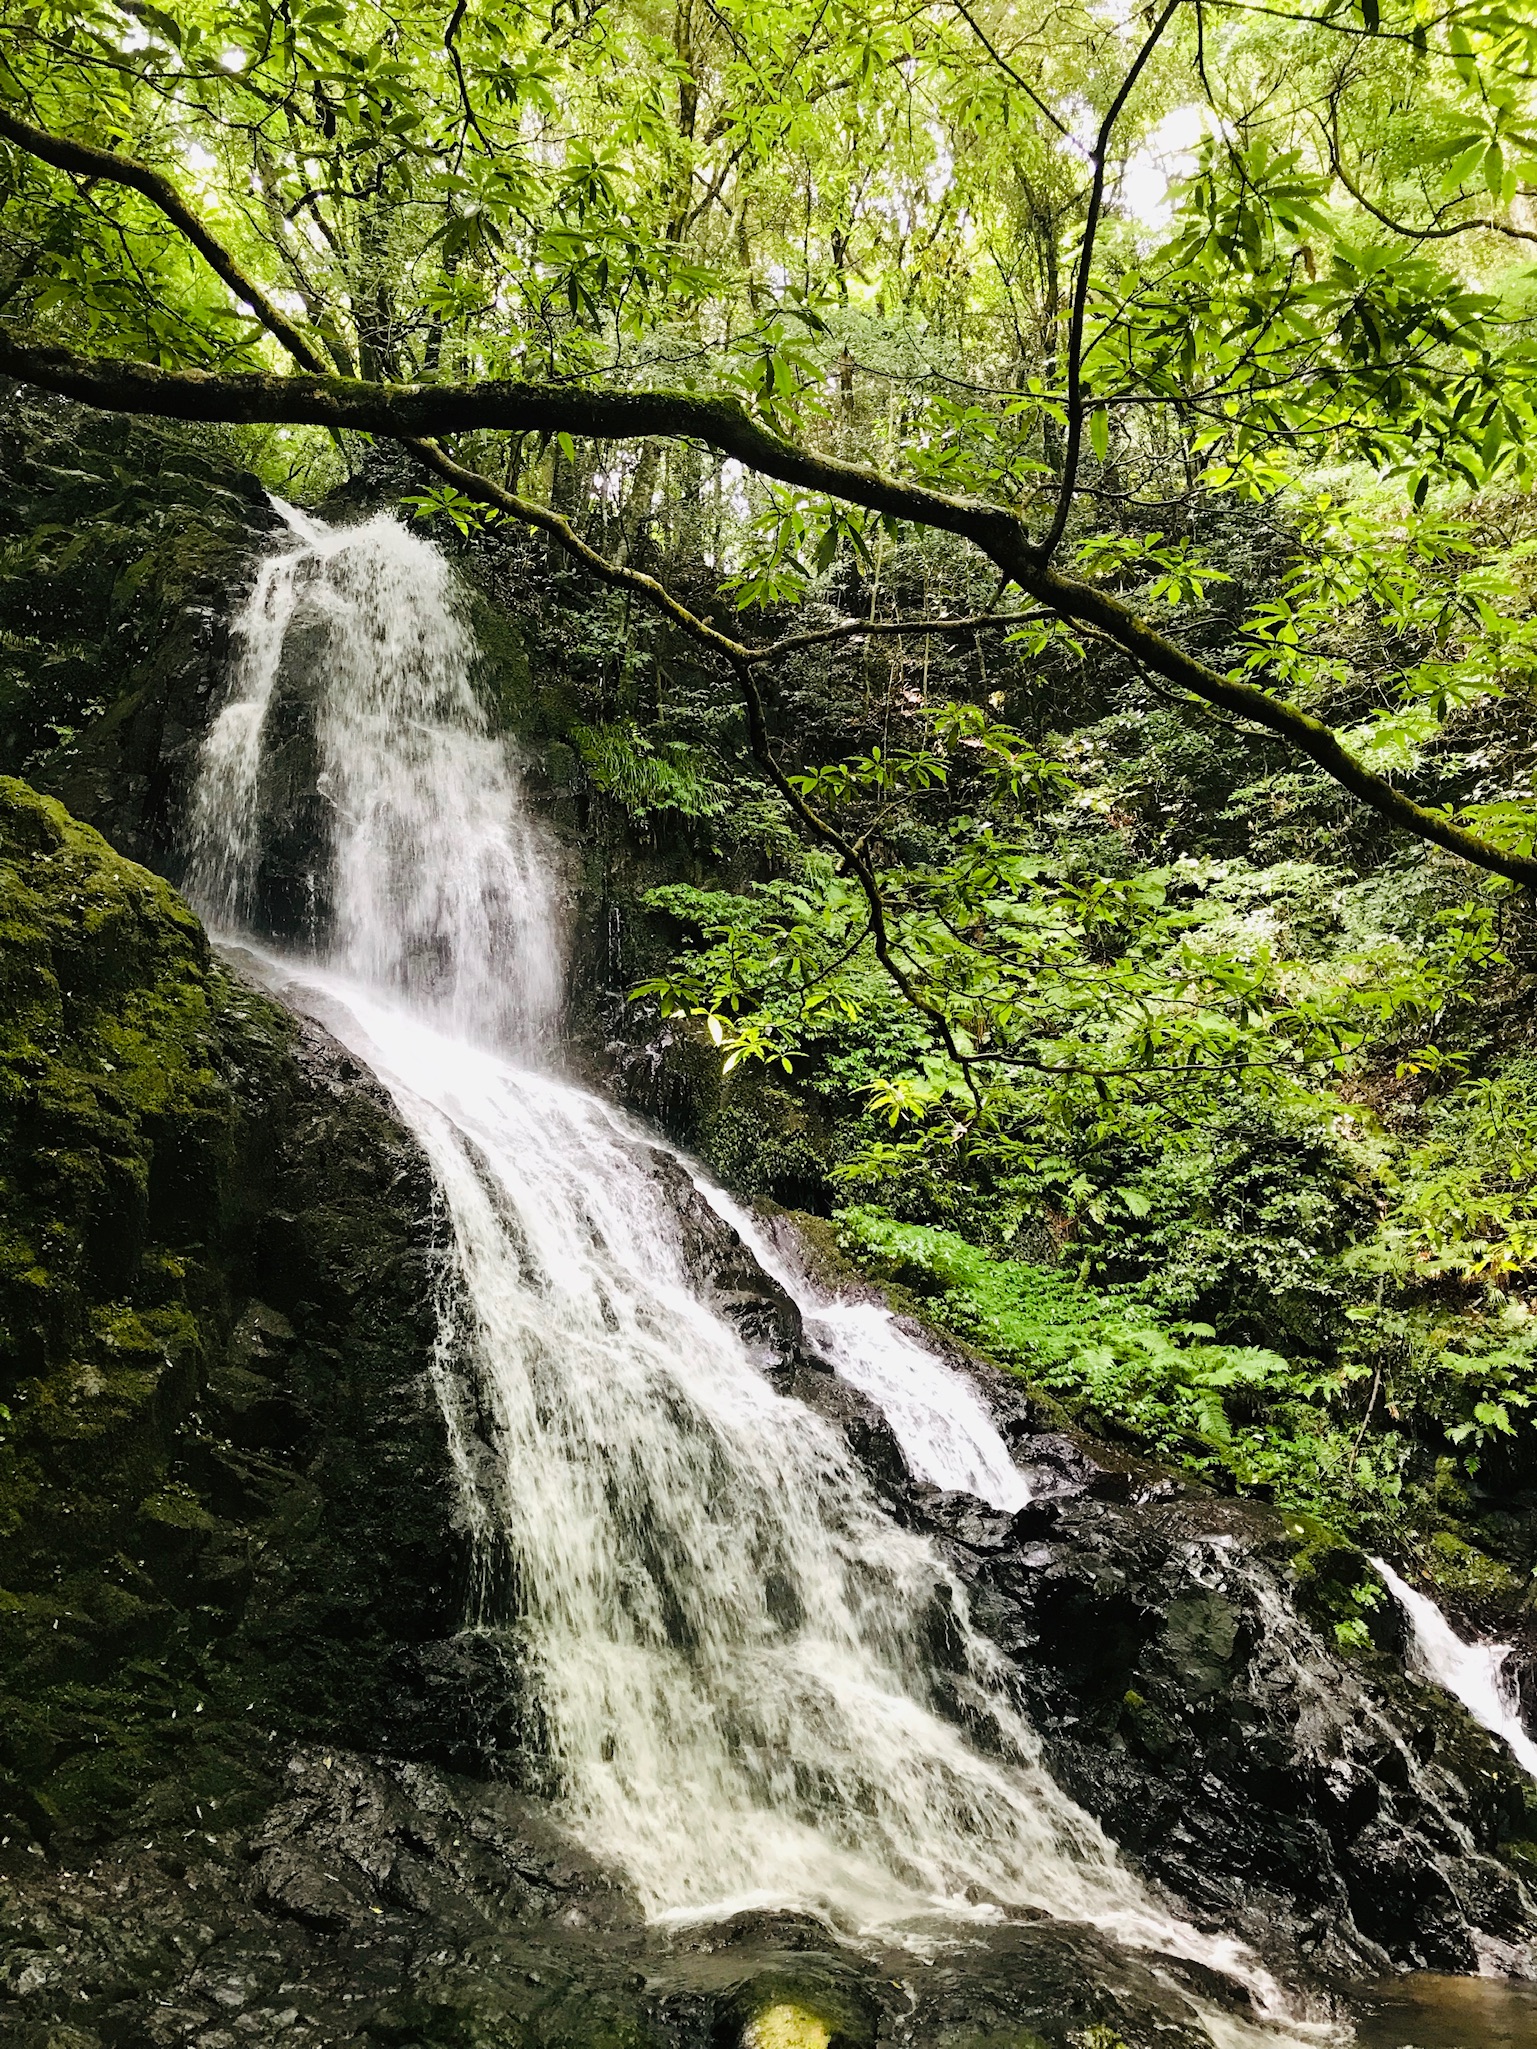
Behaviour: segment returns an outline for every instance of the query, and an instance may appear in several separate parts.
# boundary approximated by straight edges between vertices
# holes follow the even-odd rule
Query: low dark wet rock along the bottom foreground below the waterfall
[[[978,1924],[932,1961],[803,1914],[652,1928],[539,1803],[314,1746],[246,1840],[135,1836],[0,1879],[18,2049],[744,2049],[771,2014],[826,2049],[1209,2049],[1211,2008],[1248,2010],[1070,1924]]]

